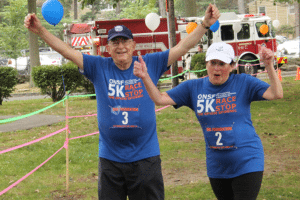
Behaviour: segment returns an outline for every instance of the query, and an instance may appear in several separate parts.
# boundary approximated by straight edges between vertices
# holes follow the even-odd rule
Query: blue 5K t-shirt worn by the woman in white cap
[[[233,178],[264,170],[264,152],[251,121],[250,104],[263,100],[269,84],[246,74],[232,74],[220,86],[209,78],[185,81],[167,93],[176,108],[195,111],[206,142],[210,178]]]

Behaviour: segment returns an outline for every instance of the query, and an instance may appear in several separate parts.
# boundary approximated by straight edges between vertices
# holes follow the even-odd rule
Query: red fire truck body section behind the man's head
[[[160,52],[169,49],[168,24],[166,18],[160,19],[159,27],[152,32],[147,28],[144,19],[123,19],[110,21],[95,21],[91,24],[71,24],[64,31],[64,40],[73,48],[83,53],[110,57],[105,45],[107,44],[108,31],[116,25],[128,27],[136,42],[134,55]],[[181,35],[176,23],[176,40],[179,42]],[[183,72],[182,61],[178,60],[178,73]],[[166,75],[171,75],[171,69]]]

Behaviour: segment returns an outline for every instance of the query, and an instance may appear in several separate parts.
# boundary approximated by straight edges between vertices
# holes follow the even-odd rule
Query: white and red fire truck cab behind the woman
[[[200,23],[201,20],[203,18],[189,18],[186,21]],[[204,50],[213,42],[230,44],[235,51],[238,73],[256,74],[258,69],[264,69],[259,62],[258,45],[271,49],[276,55],[277,44],[270,17],[264,14],[221,13],[219,24],[216,32],[208,31],[202,39]],[[276,62],[280,66],[287,63],[287,58],[275,56]]]

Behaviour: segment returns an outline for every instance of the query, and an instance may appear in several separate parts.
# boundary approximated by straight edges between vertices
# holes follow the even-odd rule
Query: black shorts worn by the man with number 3
[[[98,195],[101,200],[163,200],[160,156],[132,163],[99,159]]]

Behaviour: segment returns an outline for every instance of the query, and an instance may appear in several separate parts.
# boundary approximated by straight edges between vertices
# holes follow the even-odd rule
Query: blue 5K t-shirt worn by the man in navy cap
[[[143,56],[157,84],[168,70],[169,50]],[[99,127],[99,157],[128,163],[160,154],[155,105],[142,80],[133,75],[134,61],[120,70],[112,58],[83,54],[83,74],[94,84]]]

